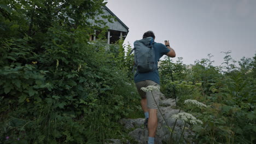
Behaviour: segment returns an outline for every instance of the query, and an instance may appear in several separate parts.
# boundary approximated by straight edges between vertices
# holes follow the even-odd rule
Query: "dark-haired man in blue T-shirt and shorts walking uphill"
[[[152,37],[151,39],[149,37]],[[148,127],[148,143],[154,143],[156,128],[158,127],[158,117],[157,117],[157,106],[156,103],[159,101],[160,92],[153,92],[153,95],[150,92],[143,92],[141,90],[142,87],[147,86],[157,86],[160,87],[160,79],[158,73],[158,61],[163,56],[166,55],[168,57],[175,57],[175,51],[170,47],[169,41],[165,41],[165,45],[161,43],[155,43],[155,35],[152,31],[148,31],[143,34],[143,39],[141,41],[151,40],[149,43],[154,48],[154,67],[152,71],[141,72],[137,69],[136,74],[134,76],[134,81],[136,83],[136,87],[139,95],[141,95],[141,106],[144,111],[144,115],[146,118],[145,125]],[[136,42],[135,42],[136,43]],[[137,49],[135,45],[135,50]],[[138,60],[140,57],[136,57]],[[137,60],[136,60],[137,61]],[[138,68],[138,66],[137,66]]]

